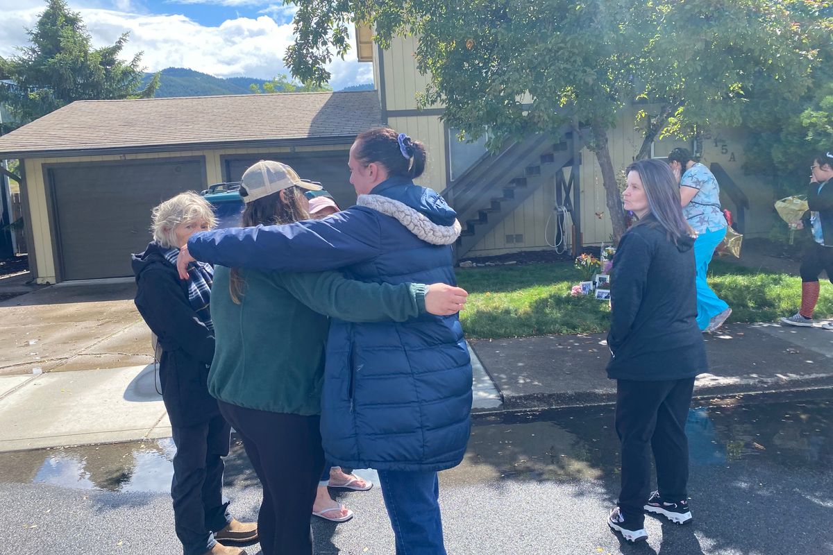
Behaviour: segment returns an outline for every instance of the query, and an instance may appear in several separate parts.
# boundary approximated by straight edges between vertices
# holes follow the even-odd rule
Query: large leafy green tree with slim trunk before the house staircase
[[[662,136],[741,123],[749,103],[795,102],[811,86],[816,43],[830,40],[828,2],[814,0],[293,0],[287,67],[326,82],[352,20],[375,40],[419,37],[431,77],[421,106],[440,105],[475,140],[573,126],[601,166],[616,238],[626,229],[609,131],[641,102],[646,157]],[[621,169],[621,168],[620,168]]]

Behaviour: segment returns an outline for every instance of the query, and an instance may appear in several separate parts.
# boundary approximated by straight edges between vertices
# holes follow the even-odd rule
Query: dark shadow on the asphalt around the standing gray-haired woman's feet
[[[824,551],[820,523],[831,522],[833,508],[833,403],[741,403],[729,399],[691,409],[686,433],[694,521],[679,526],[661,520],[656,553]],[[619,444],[611,407],[502,414],[479,422],[488,424],[472,430],[466,462],[484,483],[490,477],[498,494],[511,482],[591,480],[603,488],[606,503],[616,503]],[[588,489],[586,497],[592,503],[597,495]],[[786,519],[785,512],[801,516]],[[621,552],[655,553],[626,543]]]

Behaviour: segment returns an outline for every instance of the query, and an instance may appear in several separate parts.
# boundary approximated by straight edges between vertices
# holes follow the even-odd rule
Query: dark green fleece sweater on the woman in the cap
[[[362,283],[338,272],[239,271],[245,283],[237,305],[229,269],[214,269],[216,346],[208,391],[248,409],[321,414],[327,315],[403,322],[425,312],[426,285]]]

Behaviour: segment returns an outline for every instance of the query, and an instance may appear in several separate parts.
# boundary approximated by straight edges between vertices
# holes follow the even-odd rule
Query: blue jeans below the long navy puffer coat
[[[397,555],[446,555],[436,472],[379,470]]]

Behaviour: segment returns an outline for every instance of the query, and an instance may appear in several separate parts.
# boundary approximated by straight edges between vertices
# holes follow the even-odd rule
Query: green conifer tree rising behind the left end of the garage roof
[[[94,48],[81,16],[63,0],[48,0],[29,45],[17,56],[0,57],[0,75],[15,83],[0,86],[0,102],[22,125],[76,100],[150,98],[158,75],[141,87],[142,53],[129,62],[119,59],[127,32],[112,46]]]

